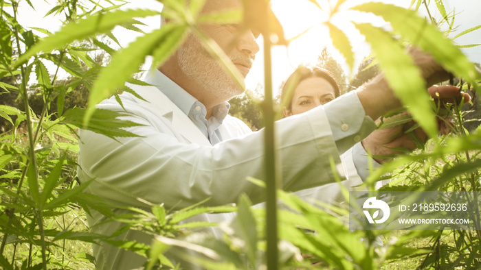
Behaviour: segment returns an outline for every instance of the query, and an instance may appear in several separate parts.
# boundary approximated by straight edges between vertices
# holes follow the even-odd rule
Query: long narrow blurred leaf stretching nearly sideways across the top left
[[[158,14],[159,12],[155,10],[115,10],[88,16],[82,21],[68,23],[60,31],[52,36],[47,36],[42,42],[21,55],[15,67],[20,66],[20,64],[41,51],[52,51],[64,47],[75,40],[89,38],[89,36],[97,33],[109,32],[116,25],[126,23],[136,17],[155,16]]]

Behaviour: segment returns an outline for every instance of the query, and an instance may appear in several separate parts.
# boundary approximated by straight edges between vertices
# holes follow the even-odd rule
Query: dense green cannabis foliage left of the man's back
[[[73,1],[57,5],[50,13],[64,12],[69,25],[85,19],[95,28],[101,20],[90,14],[101,14],[98,7],[89,10]],[[82,105],[81,96],[88,95],[87,88],[102,61],[87,53],[86,47],[93,45],[71,42],[79,36],[60,32],[67,39],[56,36],[41,41],[16,21],[17,1],[11,5],[1,1],[0,8],[0,118],[4,120],[0,123],[1,268],[91,268],[93,256],[82,243],[95,243],[105,236],[88,232],[79,205],[87,212],[95,209],[107,216],[113,212],[103,199],[82,194],[89,183],[79,186],[75,180],[78,142],[74,128],[82,125],[85,112],[73,107],[77,103],[85,107],[86,99]],[[67,32],[91,31],[84,26],[67,28]],[[36,31],[52,35],[43,29]],[[58,51],[48,51],[52,49]],[[46,62],[55,64],[54,73]],[[60,69],[72,77],[58,79]],[[82,92],[80,98],[71,95],[78,92]],[[72,98],[77,99],[75,104]],[[63,114],[65,108],[70,110]],[[93,114],[89,128],[111,137],[133,136],[124,128],[134,124],[116,119],[120,115],[99,111]],[[71,243],[82,247],[75,250]]]

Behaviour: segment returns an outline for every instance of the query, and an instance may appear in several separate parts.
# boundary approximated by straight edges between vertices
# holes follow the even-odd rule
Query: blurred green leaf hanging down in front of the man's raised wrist
[[[432,100],[427,93],[421,71],[412,58],[407,56],[401,45],[382,29],[366,23],[355,24],[355,27],[377,53],[385,79],[397,97],[407,106],[413,119],[429,136],[436,137],[438,125],[431,106]]]

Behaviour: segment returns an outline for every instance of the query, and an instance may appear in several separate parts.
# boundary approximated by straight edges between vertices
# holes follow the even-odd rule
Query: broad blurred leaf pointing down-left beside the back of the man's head
[[[116,53],[109,66],[100,71],[89,95],[88,107],[94,108],[102,99],[115,93],[115,89],[125,84],[149,54],[154,56],[156,64],[167,60],[182,42],[187,29],[186,25],[164,25],[150,34],[137,38],[128,47]],[[93,110],[85,114],[85,123],[88,123],[91,113]]]

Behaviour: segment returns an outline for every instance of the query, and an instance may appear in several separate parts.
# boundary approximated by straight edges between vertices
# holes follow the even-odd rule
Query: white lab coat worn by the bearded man
[[[128,130],[142,137],[113,140],[93,132],[80,132],[78,177],[85,183],[94,179],[86,192],[104,197],[120,206],[148,209],[144,201],[164,204],[178,210],[210,198],[205,206],[236,203],[240,194],[251,201],[264,200],[265,191],[246,181],[247,176],[263,178],[264,155],[262,131],[251,132],[239,119],[227,116],[219,127],[223,142],[210,145],[207,138],[155,86],[130,85],[146,101],[124,93],[123,106],[131,116],[125,119],[144,126]],[[124,109],[115,99],[102,101],[98,108]],[[350,155],[341,164],[323,108],[292,116],[276,123],[277,149],[282,163],[282,185],[287,191],[300,191],[334,182],[329,162],[331,156],[337,173],[351,175],[351,184],[361,184]],[[314,188],[304,193],[324,197],[338,191]],[[308,195],[308,196],[311,196]],[[118,214],[127,210],[115,209]],[[201,214],[197,221],[224,221],[232,214]],[[110,235],[121,223],[104,223],[99,212],[88,217],[92,232]],[[214,234],[218,233],[212,230]],[[151,236],[129,230],[120,238],[150,244]],[[94,246],[98,269],[133,269],[141,267],[143,258],[107,243]]]

